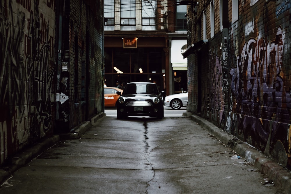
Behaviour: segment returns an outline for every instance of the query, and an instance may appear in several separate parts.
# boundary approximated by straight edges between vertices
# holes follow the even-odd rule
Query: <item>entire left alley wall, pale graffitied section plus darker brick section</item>
[[[103,1],[0,3],[3,165],[102,112],[104,52]]]

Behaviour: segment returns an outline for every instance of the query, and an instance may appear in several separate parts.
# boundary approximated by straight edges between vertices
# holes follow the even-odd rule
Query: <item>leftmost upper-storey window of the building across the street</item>
[[[114,30],[114,0],[104,0],[104,30]]]

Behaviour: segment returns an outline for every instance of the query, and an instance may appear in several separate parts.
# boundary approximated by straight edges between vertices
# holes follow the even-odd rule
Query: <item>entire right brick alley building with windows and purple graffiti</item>
[[[290,2],[183,3],[188,14],[187,111],[290,169]]]

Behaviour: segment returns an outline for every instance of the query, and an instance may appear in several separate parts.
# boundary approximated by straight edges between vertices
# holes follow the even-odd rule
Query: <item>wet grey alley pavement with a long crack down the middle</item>
[[[77,139],[56,139],[4,180],[0,193],[288,193],[252,156],[233,159],[228,135],[210,133],[185,110],[124,120],[105,112]]]

